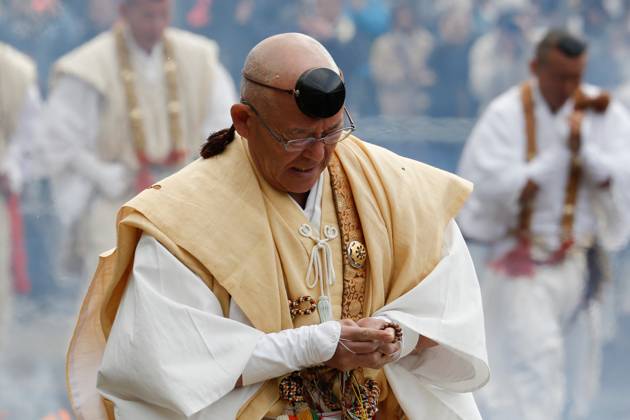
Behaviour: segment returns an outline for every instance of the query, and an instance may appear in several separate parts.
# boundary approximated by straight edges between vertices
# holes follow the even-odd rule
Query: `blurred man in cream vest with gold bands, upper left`
[[[68,255],[90,272],[116,209],[194,158],[236,94],[213,41],[169,28],[170,0],[123,0],[120,22],[59,59],[46,155]],[[66,258],[74,261],[77,258]]]

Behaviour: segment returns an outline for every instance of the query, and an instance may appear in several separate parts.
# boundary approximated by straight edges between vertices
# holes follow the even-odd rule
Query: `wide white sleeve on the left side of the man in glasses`
[[[208,287],[145,235],[97,386],[119,419],[234,418],[258,389],[234,386],[262,335],[225,318]]]

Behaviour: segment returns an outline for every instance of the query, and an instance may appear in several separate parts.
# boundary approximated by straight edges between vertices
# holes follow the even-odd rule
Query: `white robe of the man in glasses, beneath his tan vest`
[[[321,178],[320,178],[321,183]],[[318,189],[315,188],[314,191]],[[309,196],[311,222],[319,216]],[[488,379],[479,287],[455,222],[440,263],[418,286],[373,316],[440,343],[385,368],[410,419],[480,419],[470,391]],[[98,377],[118,419],[230,419],[260,384],[233,389],[263,333],[232,302],[222,316],[212,292],[143,236]],[[466,351],[463,351],[466,349]]]

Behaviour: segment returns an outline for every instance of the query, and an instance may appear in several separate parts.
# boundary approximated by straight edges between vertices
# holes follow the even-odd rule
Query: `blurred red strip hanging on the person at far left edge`
[[[20,210],[20,198],[17,194],[9,195],[7,207],[9,210],[9,226],[11,226],[13,288],[17,293],[27,294],[31,291],[31,281],[28,277],[24,226],[22,223],[22,211]]]

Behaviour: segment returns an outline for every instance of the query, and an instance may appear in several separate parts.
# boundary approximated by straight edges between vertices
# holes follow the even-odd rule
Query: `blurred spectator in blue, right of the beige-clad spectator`
[[[432,117],[474,117],[477,105],[469,88],[468,57],[475,40],[471,8],[448,8],[438,18],[435,48],[428,65],[436,75],[429,89]]]

